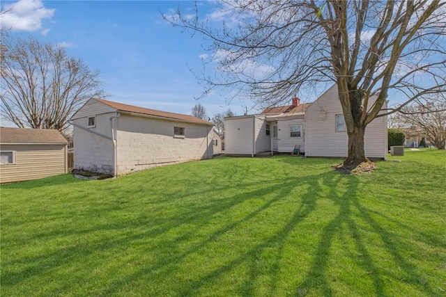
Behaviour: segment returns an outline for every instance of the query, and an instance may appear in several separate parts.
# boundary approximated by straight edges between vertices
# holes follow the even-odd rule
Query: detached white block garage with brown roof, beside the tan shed
[[[76,169],[114,176],[213,156],[213,124],[91,98],[72,115]]]

